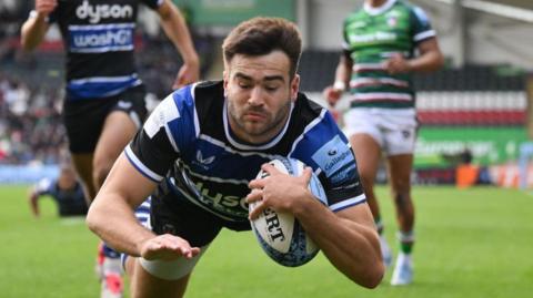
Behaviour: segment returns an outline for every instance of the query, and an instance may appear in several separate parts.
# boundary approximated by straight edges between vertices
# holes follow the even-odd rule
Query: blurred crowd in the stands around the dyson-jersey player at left
[[[20,49],[20,27],[30,10],[22,2],[0,3],[0,164],[57,164],[67,146],[61,122],[64,55],[53,47],[32,54]],[[217,41],[191,33],[203,78]],[[140,43],[135,59],[148,102],[161,100],[171,92],[180,55],[162,32],[149,35],[140,30],[135,42]]]

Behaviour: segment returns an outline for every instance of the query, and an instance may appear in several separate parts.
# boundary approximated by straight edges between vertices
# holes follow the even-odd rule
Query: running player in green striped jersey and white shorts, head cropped
[[[385,265],[392,263],[374,194],[381,154],[386,155],[400,232],[400,254],[392,285],[412,281],[414,206],[411,169],[416,140],[415,95],[411,73],[434,71],[443,64],[435,31],[425,12],[403,0],[365,0],[343,24],[343,54],[335,83],[324,90],[334,105],[350,91],[345,133],[355,152],[359,173],[380,233]],[[418,51],[418,54],[416,54]]]

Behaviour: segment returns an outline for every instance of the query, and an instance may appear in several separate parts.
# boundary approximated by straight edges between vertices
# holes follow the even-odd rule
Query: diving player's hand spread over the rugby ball
[[[250,213],[250,219],[257,218],[266,208],[294,213],[298,202],[308,196],[312,197],[308,188],[312,173],[310,167],[305,167],[298,177],[281,173],[271,164],[263,164],[261,169],[269,173],[269,176],[249,183],[252,191],[247,196],[247,203],[259,202]]]

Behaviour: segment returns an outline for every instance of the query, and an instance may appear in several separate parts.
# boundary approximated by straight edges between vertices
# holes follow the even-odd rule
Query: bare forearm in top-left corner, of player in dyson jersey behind
[[[36,0],[36,10],[30,13],[30,18],[22,24],[22,49],[31,51],[41,43],[49,28],[48,16],[57,6],[58,0]]]

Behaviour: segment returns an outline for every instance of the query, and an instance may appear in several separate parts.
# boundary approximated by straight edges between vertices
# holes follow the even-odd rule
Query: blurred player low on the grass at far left
[[[28,201],[31,212],[36,217],[40,216],[39,199],[50,196],[58,205],[59,216],[84,216],[87,214],[87,202],[83,187],[78,182],[74,169],[70,164],[60,166],[58,178],[43,178],[30,191]]]

